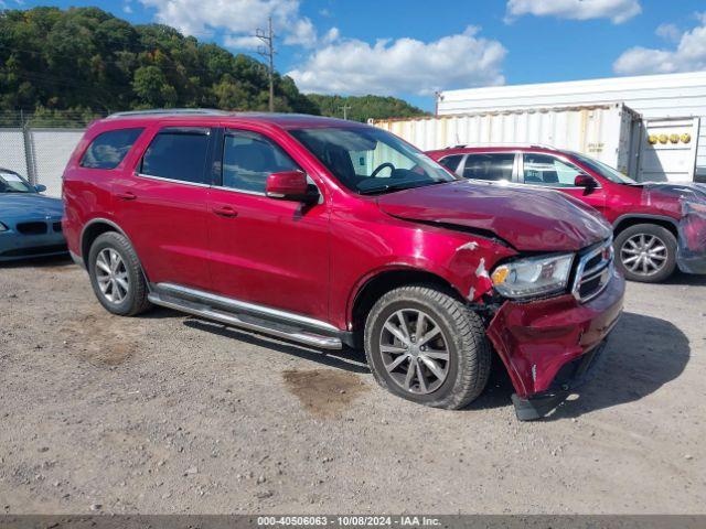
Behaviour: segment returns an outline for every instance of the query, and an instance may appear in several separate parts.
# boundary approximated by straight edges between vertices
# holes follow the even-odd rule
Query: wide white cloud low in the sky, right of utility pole
[[[339,40],[315,51],[289,72],[302,91],[343,94],[419,94],[437,89],[504,83],[506,50],[478,36],[478,28],[434,42],[415,39],[378,40],[371,45]],[[332,32],[330,32],[332,33]]]

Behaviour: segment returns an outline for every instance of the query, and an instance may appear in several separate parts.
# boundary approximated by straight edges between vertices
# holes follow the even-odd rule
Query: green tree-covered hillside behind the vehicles
[[[282,112],[340,117],[347,106],[359,121],[424,115],[394,97],[304,96],[280,74],[275,95]],[[50,125],[140,108],[267,106],[263,63],[173,28],[132,25],[98,8],[0,9],[0,119],[20,109]]]

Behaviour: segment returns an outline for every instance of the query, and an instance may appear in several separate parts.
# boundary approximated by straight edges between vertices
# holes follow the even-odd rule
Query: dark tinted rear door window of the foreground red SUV
[[[208,153],[208,134],[201,131],[162,131],[142,156],[140,172],[150,176],[206,183],[204,169]]]

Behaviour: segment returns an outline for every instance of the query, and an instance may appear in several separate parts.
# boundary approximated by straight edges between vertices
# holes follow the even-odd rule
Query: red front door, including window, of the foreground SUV
[[[264,132],[227,129],[208,199],[213,290],[228,298],[328,319],[329,213],[265,196],[270,173],[302,168]]]

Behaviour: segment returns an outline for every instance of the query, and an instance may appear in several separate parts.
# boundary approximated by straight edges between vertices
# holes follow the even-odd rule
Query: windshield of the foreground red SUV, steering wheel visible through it
[[[290,133],[344,186],[362,195],[458,180],[421,151],[381,129],[327,127]]]

